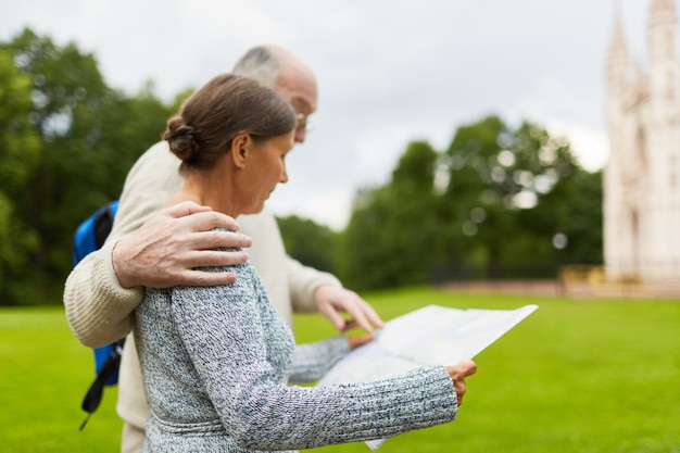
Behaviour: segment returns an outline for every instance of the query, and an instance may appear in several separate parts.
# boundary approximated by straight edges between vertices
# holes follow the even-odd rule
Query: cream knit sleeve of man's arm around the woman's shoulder
[[[133,311],[141,302],[143,289],[121,286],[111,260],[113,248],[119,238],[160,211],[179,189],[178,162],[166,142],[156,143],[137,161],[125,180],[106,242],[68,275],[63,294],[66,318],[85,345],[101,347],[131,330]]]

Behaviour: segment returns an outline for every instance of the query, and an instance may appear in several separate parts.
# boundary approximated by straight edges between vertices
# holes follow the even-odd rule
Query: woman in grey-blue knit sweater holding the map
[[[295,114],[268,88],[221,75],[172,117],[163,136],[193,201],[232,217],[260,212],[293,146]],[[210,232],[207,232],[210,234]],[[227,286],[146,290],[135,341],[151,408],[144,452],[310,449],[380,439],[455,418],[473,362],[427,366],[375,382],[291,387],[318,379],[369,338],[295,347],[250,262]]]

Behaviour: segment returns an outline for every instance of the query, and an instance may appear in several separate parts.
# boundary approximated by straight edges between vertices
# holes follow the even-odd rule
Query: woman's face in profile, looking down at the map
[[[264,202],[279,183],[288,181],[286,155],[294,143],[294,130],[264,141],[253,142],[248,160],[248,207],[244,214],[255,214],[264,209]]]

